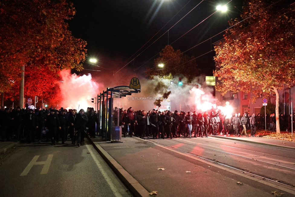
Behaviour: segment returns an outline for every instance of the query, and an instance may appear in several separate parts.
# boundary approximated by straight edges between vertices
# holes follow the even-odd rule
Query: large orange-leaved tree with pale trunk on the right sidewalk
[[[221,84],[216,90],[276,94],[277,133],[279,127],[279,94],[284,84],[295,79],[294,65],[294,6],[288,1],[248,0],[243,6],[242,21],[233,26],[215,47],[217,70],[214,76]],[[234,25],[238,24],[238,25]]]

